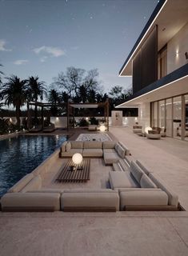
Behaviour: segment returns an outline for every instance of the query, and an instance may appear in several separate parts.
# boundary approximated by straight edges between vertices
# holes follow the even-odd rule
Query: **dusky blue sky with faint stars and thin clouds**
[[[98,68],[104,91],[130,87],[118,72],[157,0],[0,0],[0,64],[6,76],[50,86],[74,66]],[[4,80],[3,80],[4,81]]]

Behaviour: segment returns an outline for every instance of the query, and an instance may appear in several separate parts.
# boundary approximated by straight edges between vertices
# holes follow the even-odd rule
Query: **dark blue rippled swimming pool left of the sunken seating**
[[[0,196],[67,139],[68,135],[18,135],[0,141]]]

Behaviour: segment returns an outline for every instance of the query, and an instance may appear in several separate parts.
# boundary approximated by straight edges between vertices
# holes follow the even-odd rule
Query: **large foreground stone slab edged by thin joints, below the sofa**
[[[167,218],[0,218],[1,256],[187,255]]]

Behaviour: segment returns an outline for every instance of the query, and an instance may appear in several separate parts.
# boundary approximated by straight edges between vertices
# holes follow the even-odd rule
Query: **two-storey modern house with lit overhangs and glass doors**
[[[187,0],[158,2],[119,76],[132,76],[133,95],[117,107],[138,106],[140,125],[188,140]]]

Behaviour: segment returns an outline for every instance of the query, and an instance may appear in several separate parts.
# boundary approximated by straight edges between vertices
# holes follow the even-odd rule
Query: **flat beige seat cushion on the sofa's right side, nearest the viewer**
[[[129,171],[109,172],[110,186],[112,189],[138,187],[138,183],[130,176]]]

